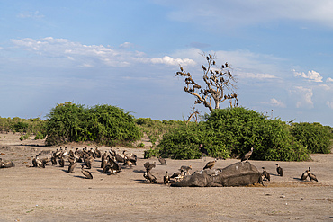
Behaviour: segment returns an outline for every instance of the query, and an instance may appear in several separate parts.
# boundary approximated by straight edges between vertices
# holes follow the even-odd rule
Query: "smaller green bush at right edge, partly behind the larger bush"
[[[322,126],[320,123],[294,123],[291,133],[311,153],[330,153],[329,146],[332,134],[329,128]]]

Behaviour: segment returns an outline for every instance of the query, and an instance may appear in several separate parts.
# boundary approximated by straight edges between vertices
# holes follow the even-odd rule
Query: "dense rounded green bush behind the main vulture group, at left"
[[[48,117],[47,145],[79,141],[114,145],[142,135],[129,113],[110,105],[85,108],[65,102],[53,108]]]

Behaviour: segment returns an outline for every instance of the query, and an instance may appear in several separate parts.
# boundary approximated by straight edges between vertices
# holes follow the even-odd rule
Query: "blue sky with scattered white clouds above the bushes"
[[[0,30],[1,117],[75,102],[183,120],[194,97],[175,72],[202,83],[211,53],[232,66],[241,106],[333,127],[330,0],[0,0]]]

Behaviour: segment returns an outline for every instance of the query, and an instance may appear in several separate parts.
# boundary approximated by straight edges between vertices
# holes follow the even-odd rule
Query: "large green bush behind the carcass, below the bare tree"
[[[213,157],[237,157],[254,147],[251,159],[307,160],[306,148],[293,139],[288,129],[284,121],[268,120],[256,111],[220,109],[206,115],[205,121],[166,133],[157,150],[150,153],[174,159],[200,158],[202,144]]]

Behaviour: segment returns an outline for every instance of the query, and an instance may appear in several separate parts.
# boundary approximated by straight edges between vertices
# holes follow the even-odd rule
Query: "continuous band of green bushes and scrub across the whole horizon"
[[[200,158],[202,145],[213,157],[234,158],[254,147],[251,159],[303,161],[311,153],[329,153],[333,138],[329,126],[287,123],[242,107],[216,110],[198,123],[185,123],[135,119],[115,106],[85,107],[73,102],[58,104],[47,120],[0,117],[0,130],[21,133],[21,139],[46,138],[46,145],[92,141],[106,146],[144,147],[136,141],[146,135],[154,147],[145,152],[145,157],[174,159]]]

